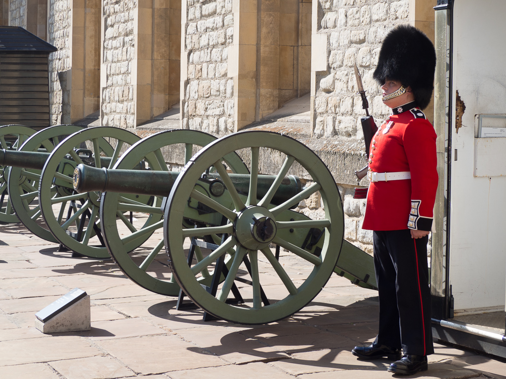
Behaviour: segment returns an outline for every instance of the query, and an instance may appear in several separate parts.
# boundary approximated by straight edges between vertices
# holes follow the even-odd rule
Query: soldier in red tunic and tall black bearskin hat
[[[429,38],[400,25],[386,36],[373,74],[392,108],[371,141],[362,224],[373,230],[379,331],[352,353],[396,360],[388,369],[396,374],[427,370],[434,353],[427,243],[438,185],[436,133],[421,110],[432,98],[435,67]]]

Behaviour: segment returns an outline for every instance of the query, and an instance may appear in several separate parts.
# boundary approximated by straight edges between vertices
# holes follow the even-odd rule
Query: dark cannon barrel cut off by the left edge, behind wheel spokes
[[[11,166],[11,167],[23,167],[23,168],[32,168],[36,170],[41,170],[44,168],[46,161],[48,160],[51,153],[40,151],[31,152],[31,151],[19,151],[19,150],[5,150],[0,149],[0,166]],[[79,153],[79,151],[77,151]],[[69,160],[73,160],[70,155],[66,157]],[[94,162],[93,156],[86,155],[82,157],[83,159],[90,160]],[[108,167],[111,163],[110,157],[100,157],[101,166]],[[143,170],[145,167],[145,162],[141,161],[134,168],[135,170]]]

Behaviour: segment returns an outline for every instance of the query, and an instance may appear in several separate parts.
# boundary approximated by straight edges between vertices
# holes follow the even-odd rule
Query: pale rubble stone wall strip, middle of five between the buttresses
[[[101,65],[101,123],[133,127],[135,123],[132,66],[135,56],[134,13],[137,0],[104,0]]]

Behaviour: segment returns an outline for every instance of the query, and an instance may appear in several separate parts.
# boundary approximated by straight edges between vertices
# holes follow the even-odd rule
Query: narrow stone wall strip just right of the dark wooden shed
[[[49,56],[51,88],[49,102],[52,125],[70,123],[71,16],[70,0],[50,0],[48,37],[49,42],[58,49]]]

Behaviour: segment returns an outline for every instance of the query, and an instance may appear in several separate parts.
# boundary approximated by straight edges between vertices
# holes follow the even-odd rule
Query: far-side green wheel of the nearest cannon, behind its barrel
[[[133,145],[113,168],[132,169],[144,159],[151,170],[169,171],[164,155],[170,157],[168,159],[175,159],[173,157],[179,153],[181,157],[185,157],[184,162],[179,162],[183,167],[192,157],[195,147],[204,147],[214,140],[216,137],[195,130],[162,131]],[[237,155],[228,156],[226,161],[233,172],[249,173]],[[169,192],[170,184],[167,183],[167,195]],[[140,207],[121,194],[105,192],[100,202],[100,219],[109,254],[121,271],[151,292],[177,296],[180,288],[174,279],[171,279],[167,256],[163,250],[161,204],[162,199],[156,197],[152,206]],[[125,211],[134,211],[133,222],[123,215]],[[151,239],[147,241],[151,235]]]

